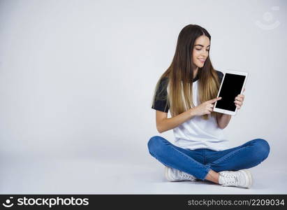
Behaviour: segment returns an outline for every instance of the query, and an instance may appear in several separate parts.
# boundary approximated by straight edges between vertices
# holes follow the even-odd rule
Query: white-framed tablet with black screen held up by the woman
[[[235,97],[242,94],[247,76],[248,73],[244,71],[226,71],[217,95],[221,99],[215,102],[213,111],[235,116],[237,111]]]

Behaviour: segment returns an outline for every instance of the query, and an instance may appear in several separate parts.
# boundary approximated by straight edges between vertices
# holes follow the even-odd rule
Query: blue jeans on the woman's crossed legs
[[[149,153],[163,165],[201,180],[205,180],[210,169],[222,172],[255,167],[263,162],[270,152],[270,146],[264,139],[253,139],[223,151],[204,148],[191,151],[175,146],[159,136],[149,139],[147,146]]]

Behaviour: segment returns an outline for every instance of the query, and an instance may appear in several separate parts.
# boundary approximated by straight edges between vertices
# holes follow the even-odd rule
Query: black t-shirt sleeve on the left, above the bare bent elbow
[[[152,105],[152,109],[163,111],[168,113],[168,104],[167,104],[167,90],[166,87],[168,85],[168,78],[161,79],[159,83],[159,89],[156,90],[156,96],[154,98],[154,104]]]

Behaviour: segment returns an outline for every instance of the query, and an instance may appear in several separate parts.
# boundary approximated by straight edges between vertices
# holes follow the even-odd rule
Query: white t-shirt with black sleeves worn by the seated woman
[[[222,79],[223,73],[216,71]],[[167,80],[164,80],[166,82]],[[161,85],[163,85],[161,83]],[[160,88],[163,87],[160,85]],[[168,88],[166,90],[168,92]],[[167,93],[165,93],[167,94]],[[166,101],[155,101],[152,109],[168,112],[164,109]],[[199,105],[198,99],[198,77],[193,79],[193,104]],[[209,116],[204,120],[202,116],[195,116],[173,129],[175,135],[175,146],[195,150],[198,148],[207,148],[213,151],[222,151],[230,148],[228,139],[224,136],[223,130],[218,126],[216,118]]]

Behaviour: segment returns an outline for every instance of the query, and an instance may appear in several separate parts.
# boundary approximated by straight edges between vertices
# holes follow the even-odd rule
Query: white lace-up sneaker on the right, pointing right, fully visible
[[[239,170],[236,172],[219,172],[219,184],[222,186],[235,186],[240,188],[250,188],[252,186],[252,174],[248,170]]]

